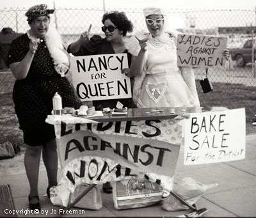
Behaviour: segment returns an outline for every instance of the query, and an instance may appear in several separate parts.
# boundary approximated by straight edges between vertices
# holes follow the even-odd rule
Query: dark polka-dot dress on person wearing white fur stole
[[[28,51],[27,34],[13,40],[8,54],[8,65],[22,61]],[[52,97],[56,92],[62,98],[63,107],[78,109],[82,105],[74,95],[67,78],[61,77],[54,70],[51,54],[44,40],[40,39],[27,77],[16,80],[13,87],[13,102],[20,128],[24,133],[24,143],[38,146],[55,138],[54,126],[45,123],[45,119],[51,114]]]

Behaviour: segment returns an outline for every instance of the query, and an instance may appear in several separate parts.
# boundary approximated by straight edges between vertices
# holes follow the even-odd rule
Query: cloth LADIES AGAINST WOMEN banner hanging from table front
[[[180,120],[89,123],[57,140],[68,180],[102,183],[148,173],[174,175],[181,143]],[[129,178],[129,177],[126,177]],[[156,182],[154,180],[153,182]]]

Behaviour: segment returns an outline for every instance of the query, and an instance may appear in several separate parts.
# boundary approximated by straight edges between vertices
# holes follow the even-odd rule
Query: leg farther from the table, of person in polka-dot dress
[[[38,196],[38,173],[42,146],[29,146],[26,144],[24,157],[26,175],[30,186],[30,196]],[[31,203],[37,203],[38,199],[32,198]]]

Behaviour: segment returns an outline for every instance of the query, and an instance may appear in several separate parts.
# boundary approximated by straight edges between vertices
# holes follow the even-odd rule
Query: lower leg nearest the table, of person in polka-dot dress
[[[58,154],[56,140],[52,139],[43,146],[43,160],[47,171],[48,187],[57,185]]]

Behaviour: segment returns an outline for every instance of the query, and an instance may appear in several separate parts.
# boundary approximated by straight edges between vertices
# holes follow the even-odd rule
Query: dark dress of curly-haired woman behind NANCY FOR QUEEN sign
[[[74,56],[88,56],[95,54],[115,54],[115,51],[106,38],[101,38],[99,35],[93,35],[92,38],[80,47],[78,52],[71,52],[70,45],[68,46],[67,51],[72,53]],[[127,53],[128,66],[131,66],[132,55],[127,50],[123,53]],[[131,79],[131,86],[133,86],[134,78]],[[108,99],[108,100],[94,100],[93,106],[96,110],[102,110],[104,107],[109,107],[111,109],[116,107],[117,102],[121,102],[124,107],[132,108],[137,107],[132,98],[119,98],[119,99]]]

